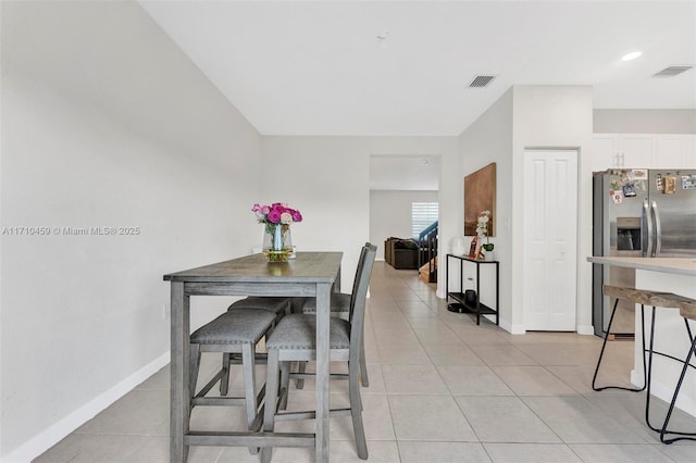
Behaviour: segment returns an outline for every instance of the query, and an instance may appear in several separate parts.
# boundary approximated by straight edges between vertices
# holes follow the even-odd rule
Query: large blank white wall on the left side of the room
[[[2,227],[50,230],[0,241],[11,462],[169,361],[162,275],[253,245],[260,136],[135,2],[2,2],[1,128]]]

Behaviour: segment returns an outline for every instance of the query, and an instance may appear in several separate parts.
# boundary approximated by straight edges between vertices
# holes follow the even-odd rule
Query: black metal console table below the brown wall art
[[[459,260],[459,290],[450,291],[449,290],[449,260],[455,259]],[[475,303],[471,303],[467,301],[465,292],[464,292],[464,265],[475,265],[476,276],[475,276],[475,291],[476,291],[476,301]],[[495,306],[487,305],[481,302],[481,266],[482,265],[495,265]],[[499,289],[498,289],[498,279],[499,279],[499,262],[498,261],[477,261],[475,259],[470,259],[464,255],[455,255],[447,254],[447,259],[445,261],[445,271],[447,275],[446,283],[446,292],[447,297],[453,299],[456,302],[452,302],[447,305],[447,310],[450,312],[459,312],[459,313],[475,313],[476,314],[476,325],[481,325],[481,315],[495,315],[496,316],[496,325],[499,324],[499,315],[498,315],[498,300],[499,300]],[[473,276],[467,278],[469,281],[474,279]],[[486,280],[488,281],[488,280]],[[473,289],[473,288],[472,288]]]

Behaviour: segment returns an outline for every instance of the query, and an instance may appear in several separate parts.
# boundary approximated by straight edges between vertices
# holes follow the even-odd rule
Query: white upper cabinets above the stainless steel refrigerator
[[[594,134],[593,171],[696,168],[696,135]]]

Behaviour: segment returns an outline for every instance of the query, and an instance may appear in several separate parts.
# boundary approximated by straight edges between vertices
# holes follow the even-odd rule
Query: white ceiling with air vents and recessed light
[[[513,85],[696,108],[696,70],[651,78],[696,64],[694,0],[140,3],[263,135],[457,136]]]

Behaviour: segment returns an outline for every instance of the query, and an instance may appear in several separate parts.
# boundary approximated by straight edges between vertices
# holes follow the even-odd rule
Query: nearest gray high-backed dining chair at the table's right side
[[[348,409],[332,409],[330,416],[350,415],[358,449],[358,456],[368,459],[368,443],[362,423],[362,400],[360,397],[359,371],[360,349],[362,346],[365,299],[377,248],[365,245],[358,263],[358,277],[350,299],[349,317],[344,320],[332,316],[330,325],[331,361],[348,361],[348,374],[332,374],[332,378],[348,379]],[[315,411],[283,412],[287,404],[290,376],[310,377],[313,375],[289,374],[293,361],[316,360],[316,317],[313,314],[286,315],[273,333],[266,338],[269,352],[266,367],[266,396],[263,416],[263,430],[271,433],[276,421],[312,420]],[[261,462],[269,463],[272,448],[263,448]]]

